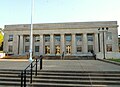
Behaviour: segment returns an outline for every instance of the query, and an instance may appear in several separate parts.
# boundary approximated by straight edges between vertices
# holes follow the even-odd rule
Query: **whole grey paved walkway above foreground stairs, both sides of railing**
[[[0,69],[25,69],[28,60],[0,59]],[[44,70],[120,71],[120,66],[98,60],[43,60]]]

